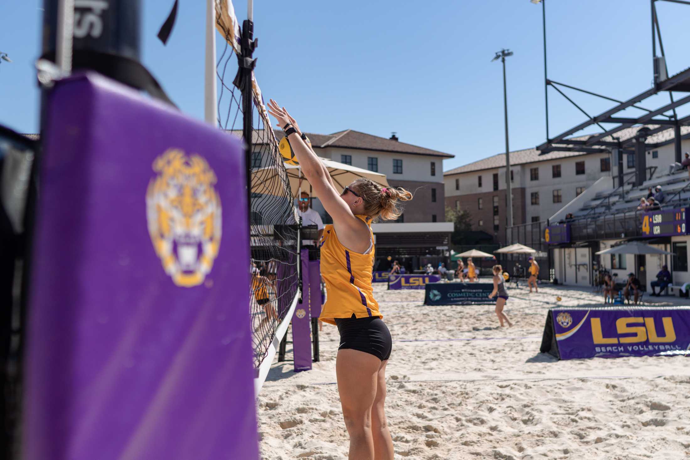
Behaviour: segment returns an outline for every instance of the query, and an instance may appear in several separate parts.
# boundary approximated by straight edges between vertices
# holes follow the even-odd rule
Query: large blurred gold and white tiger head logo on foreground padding
[[[163,268],[183,288],[199,286],[213,268],[221,238],[215,172],[197,154],[170,149],[153,161],[146,190],[148,233]]]

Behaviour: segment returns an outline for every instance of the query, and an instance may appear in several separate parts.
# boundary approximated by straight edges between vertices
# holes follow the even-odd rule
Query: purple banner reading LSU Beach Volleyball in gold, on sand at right
[[[690,353],[690,308],[553,308],[542,352],[559,359]]]

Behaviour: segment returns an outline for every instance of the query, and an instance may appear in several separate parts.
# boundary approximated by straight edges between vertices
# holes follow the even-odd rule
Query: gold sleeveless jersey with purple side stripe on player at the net
[[[324,228],[321,240],[321,274],[326,283],[328,299],[319,319],[335,324],[334,318],[381,317],[379,304],[374,299],[371,277],[374,265],[373,232],[371,217],[357,214],[369,228],[372,246],[368,254],[348,250],[340,243],[335,228]]]

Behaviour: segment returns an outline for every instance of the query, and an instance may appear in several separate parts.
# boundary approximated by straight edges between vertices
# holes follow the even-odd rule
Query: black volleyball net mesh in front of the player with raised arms
[[[242,137],[244,113],[242,91],[233,85],[237,74],[235,50],[228,43],[232,31],[227,19],[217,21],[225,34],[226,46],[217,62],[218,124],[230,134]],[[230,29],[230,30],[228,30]],[[250,313],[252,318],[255,368],[268,354],[278,326],[289,321],[286,314],[297,295],[298,228],[290,182],[278,142],[264,107],[261,92],[254,83],[253,126],[250,143],[248,183],[250,198],[250,241],[252,271]]]

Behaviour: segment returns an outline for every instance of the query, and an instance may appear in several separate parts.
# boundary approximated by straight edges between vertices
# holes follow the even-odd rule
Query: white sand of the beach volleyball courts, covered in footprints
[[[556,361],[539,352],[555,297],[562,306],[602,297],[562,287],[509,294],[515,326],[497,328],[493,306],[429,307],[424,290],[375,285],[393,336],[386,414],[396,460],[690,458],[688,358]],[[320,338],[313,370],[273,364],[257,401],[262,459],[347,459],[337,329],[324,325]]]

